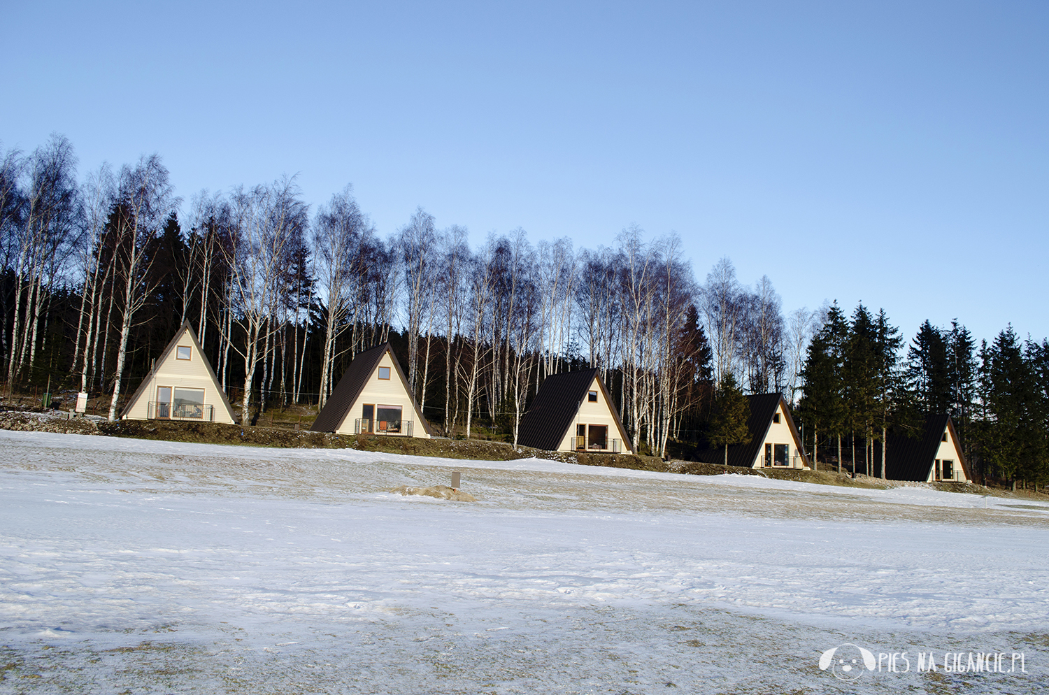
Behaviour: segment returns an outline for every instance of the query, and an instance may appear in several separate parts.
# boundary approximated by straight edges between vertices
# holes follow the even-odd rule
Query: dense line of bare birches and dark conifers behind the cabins
[[[548,374],[593,366],[641,451],[733,443],[732,404],[778,391],[821,461],[856,469],[946,412],[978,475],[1049,477],[1049,342],[1007,327],[977,345],[957,322],[907,342],[863,305],[785,316],[769,278],[745,285],[728,259],[699,282],[673,235],[471,247],[420,209],[383,237],[349,187],[313,210],[288,178],[185,201],[157,155],[81,180],[56,135],[0,148],[0,267],[6,391],[106,394],[110,417],[185,320],[242,421],[322,406],[388,341],[447,435],[516,441]]]

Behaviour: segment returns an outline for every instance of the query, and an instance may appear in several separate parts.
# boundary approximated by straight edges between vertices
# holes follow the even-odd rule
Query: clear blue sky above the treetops
[[[1049,3],[2,3],[0,142],[1049,335]]]

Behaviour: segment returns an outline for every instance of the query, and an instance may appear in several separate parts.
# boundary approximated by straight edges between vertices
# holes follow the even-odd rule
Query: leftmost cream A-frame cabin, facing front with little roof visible
[[[160,356],[153,361],[149,374],[121,411],[121,419],[236,421],[211,362],[188,321],[183,322]]]

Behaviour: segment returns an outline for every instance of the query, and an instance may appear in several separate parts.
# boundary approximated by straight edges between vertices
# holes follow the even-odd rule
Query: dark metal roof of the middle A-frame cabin
[[[557,451],[598,372],[597,368],[591,368],[548,376],[539,387],[539,392],[535,394],[532,406],[521,416],[517,427],[517,443],[522,447]],[[629,437],[626,436],[623,422],[619,419],[619,413],[612,406],[608,390],[600,378],[597,383],[604,394],[604,401],[608,404],[608,410],[616,419],[620,436],[623,437],[623,446],[633,452]]]

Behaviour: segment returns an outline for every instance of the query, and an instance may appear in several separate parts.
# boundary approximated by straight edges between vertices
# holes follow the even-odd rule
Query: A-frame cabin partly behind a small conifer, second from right
[[[750,439],[728,448],[728,464],[746,469],[810,470],[801,436],[783,394],[747,396],[747,403],[750,406],[750,417],[747,418]],[[700,452],[698,458],[708,463],[724,463],[725,449],[707,449]]]

